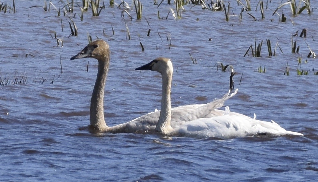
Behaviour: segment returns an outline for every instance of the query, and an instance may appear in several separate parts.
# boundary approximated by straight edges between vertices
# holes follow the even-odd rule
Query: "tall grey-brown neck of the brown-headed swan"
[[[108,73],[109,57],[107,60],[98,60],[97,78],[92,93],[90,119],[91,126],[98,130],[107,129],[104,119],[104,89]]]

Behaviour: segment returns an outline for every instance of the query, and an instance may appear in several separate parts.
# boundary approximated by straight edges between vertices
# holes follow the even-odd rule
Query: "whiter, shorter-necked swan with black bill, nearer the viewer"
[[[217,117],[193,118],[190,122],[184,122],[175,128],[171,127],[170,89],[172,78],[172,63],[170,59],[159,57],[136,70],[152,70],[162,75],[161,112],[156,125],[156,131],[165,135],[185,136],[193,138],[217,137],[223,139],[266,134],[281,136],[286,134],[302,135],[301,133],[286,131],[275,122],[266,122],[250,118],[245,115],[226,111]]]

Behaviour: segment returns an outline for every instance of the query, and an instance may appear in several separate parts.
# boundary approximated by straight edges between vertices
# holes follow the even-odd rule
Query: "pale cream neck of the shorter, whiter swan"
[[[167,74],[162,74],[162,95],[161,95],[161,111],[158,123],[156,125],[156,131],[162,133],[169,133],[172,130],[170,125],[171,120],[171,81],[172,70],[169,70]]]

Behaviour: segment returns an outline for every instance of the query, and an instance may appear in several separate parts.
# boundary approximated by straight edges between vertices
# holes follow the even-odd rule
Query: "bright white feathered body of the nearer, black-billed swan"
[[[200,118],[186,122],[170,131],[170,135],[192,138],[231,139],[259,134],[275,137],[287,134],[302,135],[301,133],[286,131],[274,121],[267,122],[238,115]]]

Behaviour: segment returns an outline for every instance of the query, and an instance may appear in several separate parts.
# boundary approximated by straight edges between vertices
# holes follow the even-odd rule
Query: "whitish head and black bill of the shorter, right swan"
[[[173,72],[172,62],[169,58],[158,57],[152,60],[150,63],[136,68],[135,70],[152,70],[161,74],[167,74]]]

